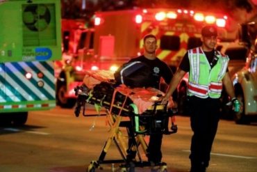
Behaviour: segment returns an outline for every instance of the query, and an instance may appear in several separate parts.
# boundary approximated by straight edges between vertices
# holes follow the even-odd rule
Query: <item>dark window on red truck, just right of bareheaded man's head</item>
[[[178,51],[180,48],[179,36],[162,36],[160,37],[160,49]]]

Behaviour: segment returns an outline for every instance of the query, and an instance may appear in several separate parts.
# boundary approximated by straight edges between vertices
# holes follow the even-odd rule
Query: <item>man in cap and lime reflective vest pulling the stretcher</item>
[[[204,172],[210,161],[210,150],[219,122],[219,97],[222,84],[232,102],[236,100],[233,84],[228,72],[229,57],[215,50],[217,29],[204,26],[201,30],[201,47],[188,50],[169,84],[162,103],[176,90],[186,72],[190,104],[191,170]],[[237,100],[238,101],[238,100]]]

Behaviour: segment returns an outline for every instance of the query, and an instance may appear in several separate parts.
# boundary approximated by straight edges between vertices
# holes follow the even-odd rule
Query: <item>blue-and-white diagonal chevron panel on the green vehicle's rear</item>
[[[26,72],[33,77],[26,79]],[[44,77],[38,78],[38,72]],[[38,81],[44,86],[39,87]],[[52,61],[0,64],[0,109],[55,107],[55,103],[49,103],[55,102],[54,81]]]

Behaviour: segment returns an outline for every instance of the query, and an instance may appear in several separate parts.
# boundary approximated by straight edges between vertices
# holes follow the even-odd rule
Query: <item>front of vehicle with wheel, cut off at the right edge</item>
[[[235,96],[242,102],[242,111],[235,113],[235,123],[247,124],[257,121],[257,38],[256,30],[254,38],[251,38],[249,30],[256,27],[255,22],[245,24],[242,40],[247,42],[249,48],[244,68],[233,75]],[[241,44],[242,45],[242,44]]]

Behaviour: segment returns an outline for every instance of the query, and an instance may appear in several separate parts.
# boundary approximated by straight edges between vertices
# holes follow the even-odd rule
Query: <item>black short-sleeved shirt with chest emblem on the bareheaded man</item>
[[[150,82],[150,86],[153,88],[159,89],[160,85],[160,78],[163,77],[166,84],[169,84],[170,80],[172,79],[172,70],[170,70],[169,66],[163,61],[161,61],[159,58],[155,58],[154,60],[149,60],[144,55],[138,56],[136,58],[132,58],[131,61],[141,61],[143,63],[146,63],[151,68],[151,75],[152,79]],[[129,61],[129,62],[131,62]]]

